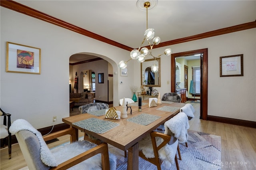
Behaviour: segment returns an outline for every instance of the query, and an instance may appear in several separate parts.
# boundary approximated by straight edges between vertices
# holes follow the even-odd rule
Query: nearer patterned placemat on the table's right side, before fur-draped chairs
[[[146,126],[146,125],[149,125],[150,123],[156,121],[159,118],[160,118],[160,116],[142,113],[138,116],[131,117],[131,118],[127,119],[126,121]]]

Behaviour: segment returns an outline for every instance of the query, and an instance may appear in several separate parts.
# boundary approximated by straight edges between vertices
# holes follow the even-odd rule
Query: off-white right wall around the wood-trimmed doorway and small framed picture
[[[256,121],[256,28],[169,47],[173,53],[208,48],[208,115]],[[220,57],[236,54],[244,54],[244,76],[220,77]],[[171,89],[170,63],[161,57],[161,95]]]

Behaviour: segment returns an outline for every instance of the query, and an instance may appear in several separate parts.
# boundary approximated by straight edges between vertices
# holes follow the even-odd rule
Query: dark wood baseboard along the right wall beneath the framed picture
[[[245,121],[245,120],[240,120],[240,119],[232,119],[232,118],[209,116],[209,115],[207,117],[207,120],[221,122],[221,123],[228,123],[228,124],[238,125],[238,126],[243,126],[243,127],[256,128],[256,122],[254,122],[254,121]]]

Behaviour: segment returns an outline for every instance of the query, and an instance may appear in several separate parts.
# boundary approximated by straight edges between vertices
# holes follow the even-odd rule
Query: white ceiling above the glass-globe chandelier
[[[136,7],[136,0],[17,2],[128,47],[138,48],[144,38],[146,11]],[[148,11],[148,28],[155,29],[161,42],[255,20],[255,0],[158,0]]]

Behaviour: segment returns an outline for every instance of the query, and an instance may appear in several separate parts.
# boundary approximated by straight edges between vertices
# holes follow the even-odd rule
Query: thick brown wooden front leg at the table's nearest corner
[[[136,143],[128,149],[127,170],[139,169],[139,144]]]

